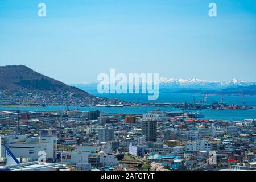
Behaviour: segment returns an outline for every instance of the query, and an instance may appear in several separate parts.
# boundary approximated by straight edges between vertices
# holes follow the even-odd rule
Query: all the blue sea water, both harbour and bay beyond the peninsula
[[[119,98],[128,102],[193,102],[193,97],[200,101],[204,97],[203,94],[179,94],[179,93],[160,93],[158,100],[148,100],[147,94],[98,94],[97,92],[89,92],[100,97]],[[207,103],[220,102],[221,96],[208,96]],[[227,104],[242,105],[242,96],[227,96],[224,95],[224,102]],[[256,106],[256,96],[245,96],[246,105]],[[163,111],[180,111],[174,107],[119,107],[119,108],[106,108],[106,107],[73,107],[69,109],[79,109],[81,111],[100,110],[105,113],[123,113],[123,114],[144,114],[148,111],[160,108]],[[16,110],[17,107],[0,107],[0,110]],[[57,111],[65,110],[66,106],[47,106],[47,107],[19,107],[22,111]],[[250,110],[197,110],[204,113],[205,119],[222,119],[222,120],[244,120],[256,119],[256,109]]]

